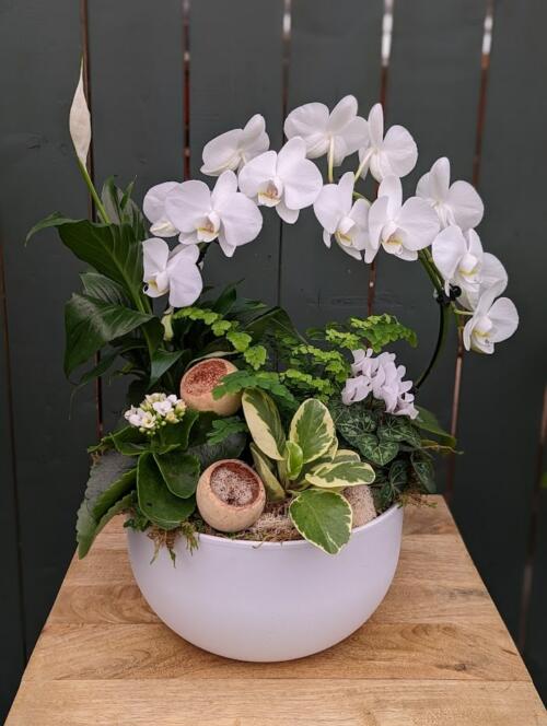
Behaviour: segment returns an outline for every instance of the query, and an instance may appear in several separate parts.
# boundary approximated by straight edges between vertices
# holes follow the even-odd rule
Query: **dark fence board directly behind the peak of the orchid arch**
[[[288,110],[314,101],[331,108],[352,94],[368,115],[380,96],[382,15],[381,0],[292,3]],[[366,315],[366,267],[325,247],[311,209],[283,227],[281,276],[281,303],[301,328]]]

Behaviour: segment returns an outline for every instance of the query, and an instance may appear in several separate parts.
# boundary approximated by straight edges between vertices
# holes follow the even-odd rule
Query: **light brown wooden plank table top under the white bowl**
[[[163,625],[131,575],[121,520],[74,559],[8,726],[532,726],[547,716],[440,496],[409,507],[392,589],[309,658],[247,664]]]

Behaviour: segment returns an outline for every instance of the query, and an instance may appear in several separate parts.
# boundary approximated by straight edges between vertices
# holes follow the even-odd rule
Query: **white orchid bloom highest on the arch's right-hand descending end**
[[[439,215],[443,227],[457,224],[472,230],[485,213],[482,200],[468,182],[450,183],[450,161],[438,159],[431,171],[424,174],[416,187],[418,197],[426,199]]]

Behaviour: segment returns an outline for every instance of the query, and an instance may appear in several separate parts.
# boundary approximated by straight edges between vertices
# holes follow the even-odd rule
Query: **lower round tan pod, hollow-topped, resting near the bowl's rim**
[[[266,490],[256,471],[238,459],[208,467],[198,481],[199,513],[213,529],[241,531],[251,527],[266,505]]]

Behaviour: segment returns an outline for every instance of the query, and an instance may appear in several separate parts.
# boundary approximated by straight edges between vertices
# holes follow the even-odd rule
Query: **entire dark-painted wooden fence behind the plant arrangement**
[[[465,457],[441,467],[439,487],[451,496],[470,553],[547,693],[547,492],[539,488],[547,3],[395,0],[393,14],[392,4],[0,3],[3,707],[72,554],[85,446],[119,401],[119,391],[103,382],[98,393],[80,393],[69,413],[62,306],[79,266],[53,235],[23,247],[28,227],[46,213],[89,212],[67,129],[82,51],[94,177],[137,176],[139,200],[155,183],[197,175],[203,143],[252,114],[264,114],[277,147],[288,109],[309,101],[331,105],[347,93],[358,96],[363,112],[382,98],[388,121],[415,136],[420,159],[407,190],[440,155],[450,156],[455,178],[478,185],[487,207],[480,234],[509,269],[521,327],[494,356],[469,355],[463,364],[451,340],[422,400],[457,428]],[[245,277],[248,294],[280,301],[302,326],[363,314],[368,306],[395,312],[421,338],[420,352],[407,360],[416,373],[435,324],[419,266],[384,255],[376,269],[359,270],[324,247],[310,213],[302,218],[281,231],[270,216],[261,241],[230,264],[208,260],[210,280]]]

